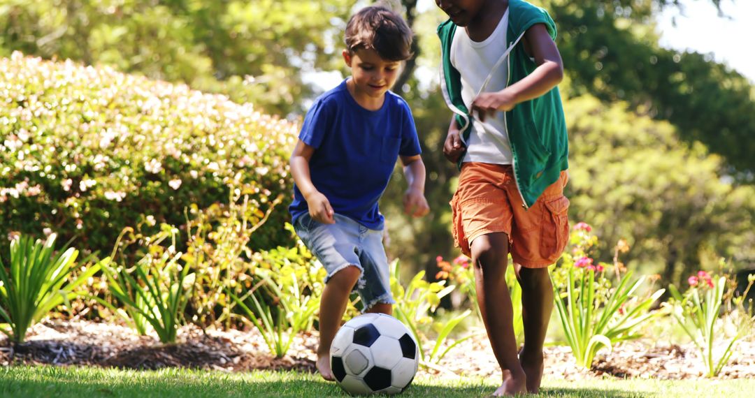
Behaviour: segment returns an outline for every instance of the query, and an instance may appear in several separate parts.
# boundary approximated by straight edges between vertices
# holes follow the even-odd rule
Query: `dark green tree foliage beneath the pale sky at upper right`
[[[572,95],[622,100],[631,109],[667,120],[692,145],[723,155],[727,173],[755,180],[755,96],[747,78],[694,52],[658,46],[654,17],[677,0],[545,1],[559,26],[558,40]],[[720,1],[713,1],[720,7]],[[720,9],[720,8],[719,8]]]

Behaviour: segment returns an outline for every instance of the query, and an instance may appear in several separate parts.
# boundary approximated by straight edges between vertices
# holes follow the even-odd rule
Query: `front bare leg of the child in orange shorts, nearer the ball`
[[[470,246],[479,309],[503,372],[503,384],[494,396],[526,392],[525,372],[516,355],[513,308],[506,285],[508,243],[508,235],[499,232],[476,237]]]

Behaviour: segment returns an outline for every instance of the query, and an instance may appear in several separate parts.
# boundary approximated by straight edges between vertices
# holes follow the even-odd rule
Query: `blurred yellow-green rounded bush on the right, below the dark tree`
[[[677,129],[624,103],[581,96],[566,111],[569,215],[596,228],[602,260],[624,238],[627,259],[677,285],[718,256],[738,268],[755,261],[755,188],[722,178],[719,156],[680,145]]]

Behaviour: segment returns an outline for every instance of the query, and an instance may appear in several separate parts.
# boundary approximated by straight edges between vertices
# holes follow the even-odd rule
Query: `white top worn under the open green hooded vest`
[[[491,69],[507,49],[508,22],[509,10],[507,8],[498,26],[484,41],[473,41],[467,35],[467,29],[456,29],[454,40],[451,42],[451,65],[461,73],[461,98],[464,99],[467,109],[472,108],[472,101],[485,82],[485,78],[488,78]],[[506,88],[509,76],[508,67],[508,60],[498,66],[485,87],[485,93]],[[506,132],[505,113],[498,111],[493,117],[485,115],[485,122],[473,118],[464,162],[512,163],[513,155]]]

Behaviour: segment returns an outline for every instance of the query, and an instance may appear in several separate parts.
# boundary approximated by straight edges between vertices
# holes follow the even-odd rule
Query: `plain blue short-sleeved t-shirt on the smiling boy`
[[[368,111],[351,96],[346,80],[316,99],[299,139],[315,148],[310,176],[334,212],[371,229],[383,228],[377,201],[399,155],[421,153],[414,118],[404,99],[387,91],[381,109]],[[288,210],[293,222],[309,213],[296,185]]]

